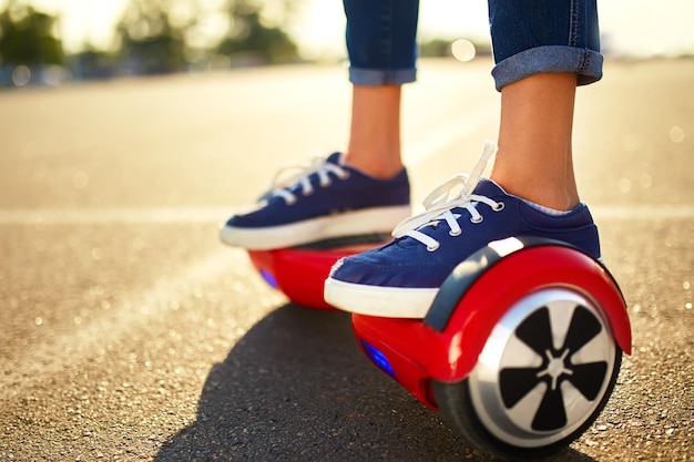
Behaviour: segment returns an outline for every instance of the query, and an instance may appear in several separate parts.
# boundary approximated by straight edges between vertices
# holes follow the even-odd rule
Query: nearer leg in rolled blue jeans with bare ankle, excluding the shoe
[[[498,62],[492,74],[501,91],[491,178],[528,201],[571,209],[579,203],[571,144],[575,88],[602,73],[595,2],[538,0],[528,9],[490,0],[489,16]]]

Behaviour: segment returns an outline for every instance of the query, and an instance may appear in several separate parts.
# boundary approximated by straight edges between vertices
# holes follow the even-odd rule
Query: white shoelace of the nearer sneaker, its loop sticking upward
[[[487,196],[472,194],[484,172],[487,162],[497,151],[498,147],[496,143],[486,141],[482,153],[477,164],[474,164],[472,172],[470,172],[469,175],[456,175],[435,188],[423,201],[425,212],[400,222],[392,230],[392,237],[412,237],[426,245],[427,250],[433,251],[439,248],[440,243],[419,232],[419,229],[425,226],[436,226],[440,220],[446,220],[450,228],[449,234],[451,236],[460,235],[462,233],[458,224],[460,215],[453,214],[451,212],[453,208],[460,207],[467,209],[471,215],[470,220],[472,223],[480,223],[482,220],[482,215],[477,209],[479,203],[489,205],[492,211],[501,211],[503,203],[498,203]],[[451,193],[458,188],[460,188],[460,193],[450,198]]]

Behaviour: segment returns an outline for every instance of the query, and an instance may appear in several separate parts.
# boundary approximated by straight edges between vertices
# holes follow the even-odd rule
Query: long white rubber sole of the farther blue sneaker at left
[[[224,225],[220,229],[220,239],[231,246],[244,247],[248,250],[271,250],[335,237],[390,233],[398,223],[409,216],[409,205],[402,205],[347,212],[265,228],[239,228]]]

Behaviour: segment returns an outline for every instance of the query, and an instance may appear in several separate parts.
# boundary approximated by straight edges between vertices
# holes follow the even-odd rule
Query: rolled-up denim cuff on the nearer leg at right
[[[565,45],[547,45],[521,51],[498,63],[491,71],[498,91],[542,72],[573,72],[579,85],[588,85],[602,78],[603,57],[594,50]]]

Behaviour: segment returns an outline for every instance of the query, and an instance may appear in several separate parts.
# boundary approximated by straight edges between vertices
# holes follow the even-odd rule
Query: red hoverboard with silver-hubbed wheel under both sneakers
[[[266,280],[296,304],[330,308],[335,261],[384,244],[350,242],[249,251]],[[501,456],[569,444],[598,418],[616,382],[631,328],[605,267],[567,244],[490,243],[441,286],[423,320],[353,315],[366,357],[467,442]]]

